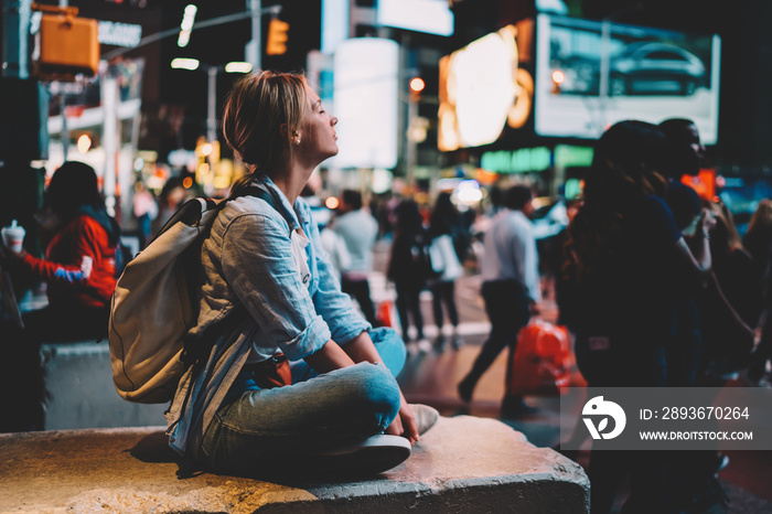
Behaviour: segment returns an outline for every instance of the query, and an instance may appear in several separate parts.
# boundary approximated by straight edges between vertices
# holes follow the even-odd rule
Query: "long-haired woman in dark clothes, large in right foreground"
[[[590,386],[664,387],[677,298],[672,270],[701,282],[710,274],[711,218],[700,214],[693,254],[662,199],[666,181],[657,170],[667,148],[654,125],[624,120],[609,128],[596,144],[583,204],[569,225],[565,320]],[[625,508],[669,512],[666,462],[658,452],[592,450],[592,512],[610,512],[626,473]]]

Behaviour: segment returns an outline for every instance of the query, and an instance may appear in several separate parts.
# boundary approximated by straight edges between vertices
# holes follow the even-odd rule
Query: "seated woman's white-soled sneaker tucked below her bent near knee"
[[[399,436],[373,436],[346,441],[311,456],[311,467],[347,474],[380,473],[410,457],[410,441]]]

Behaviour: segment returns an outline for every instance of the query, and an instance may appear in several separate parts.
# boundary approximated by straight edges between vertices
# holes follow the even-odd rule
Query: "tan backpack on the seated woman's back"
[[[277,208],[274,197],[257,186],[230,199],[245,195]],[[212,330],[195,340],[187,332],[199,318],[201,246],[224,205],[203,197],[185,202],[118,279],[108,338],[112,381],[124,399],[170,401],[187,366],[208,355]]]

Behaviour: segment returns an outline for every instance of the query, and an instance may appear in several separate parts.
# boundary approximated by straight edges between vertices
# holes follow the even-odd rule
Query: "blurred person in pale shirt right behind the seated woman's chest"
[[[349,266],[341,275],[341,289],[360,304],[365,319],[376,326],[375,306],[369,296],[367,274],[373,269],[373,245],[378,236],[378,222],[363,207],[362,193],[344,190],[341,195],[334,231],[345,242]]]

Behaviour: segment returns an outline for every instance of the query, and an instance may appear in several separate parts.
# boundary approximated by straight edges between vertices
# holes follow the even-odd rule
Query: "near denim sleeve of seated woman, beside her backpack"
[[[242,214],[223,235],[223,275],[260,328],[260,346],[300,360],[331,339],[292,260],[288,227],[265,214]]]

